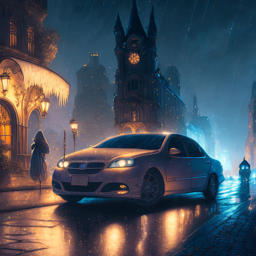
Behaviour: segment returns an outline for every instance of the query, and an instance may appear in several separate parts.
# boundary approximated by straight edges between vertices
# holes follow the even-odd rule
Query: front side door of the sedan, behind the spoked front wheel
[[[180,150],[180,153],[170,155],[171,148]],[[165,168],[166,191],[183,191],[183,193],[191,191],[191,162],[182,141],[176,135],[171,136],[166,144]]]

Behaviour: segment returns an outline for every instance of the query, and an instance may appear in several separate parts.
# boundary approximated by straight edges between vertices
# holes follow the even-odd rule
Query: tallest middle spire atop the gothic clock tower
[[[132,0],[132,9],[129,16],[126,37],[129,37],[132,34],[142,36],[144,39],[147,38],[147,35],[140,21],[136,0]]]

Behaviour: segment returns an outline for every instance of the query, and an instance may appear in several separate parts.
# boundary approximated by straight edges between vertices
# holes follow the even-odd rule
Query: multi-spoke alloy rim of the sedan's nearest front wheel
[[[146,173],[142,182],[141,200],[146,203],[152,202],[158,195],[159,184],[156,177]]]

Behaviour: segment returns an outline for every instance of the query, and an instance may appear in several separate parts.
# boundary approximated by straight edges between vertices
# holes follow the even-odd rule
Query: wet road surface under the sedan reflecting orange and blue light
[[[0,255],[162,255],[214,215],[255,198],[255,183],[225,181],[214,202],[191,193],[143,209],[130,200],[90,198],[2,213]]]

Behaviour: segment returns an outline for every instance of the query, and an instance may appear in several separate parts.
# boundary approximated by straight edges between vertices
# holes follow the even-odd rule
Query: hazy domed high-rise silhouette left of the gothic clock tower
[[[78,122],[77,145],[90,146],[105,138],[113,127],[113,110],[107,102],[109,80],[99,64],[97,52],[90,53],[90,62],[77,73],[77,95],[73,117]],[[86,143],[84,143],[86,142]]]

